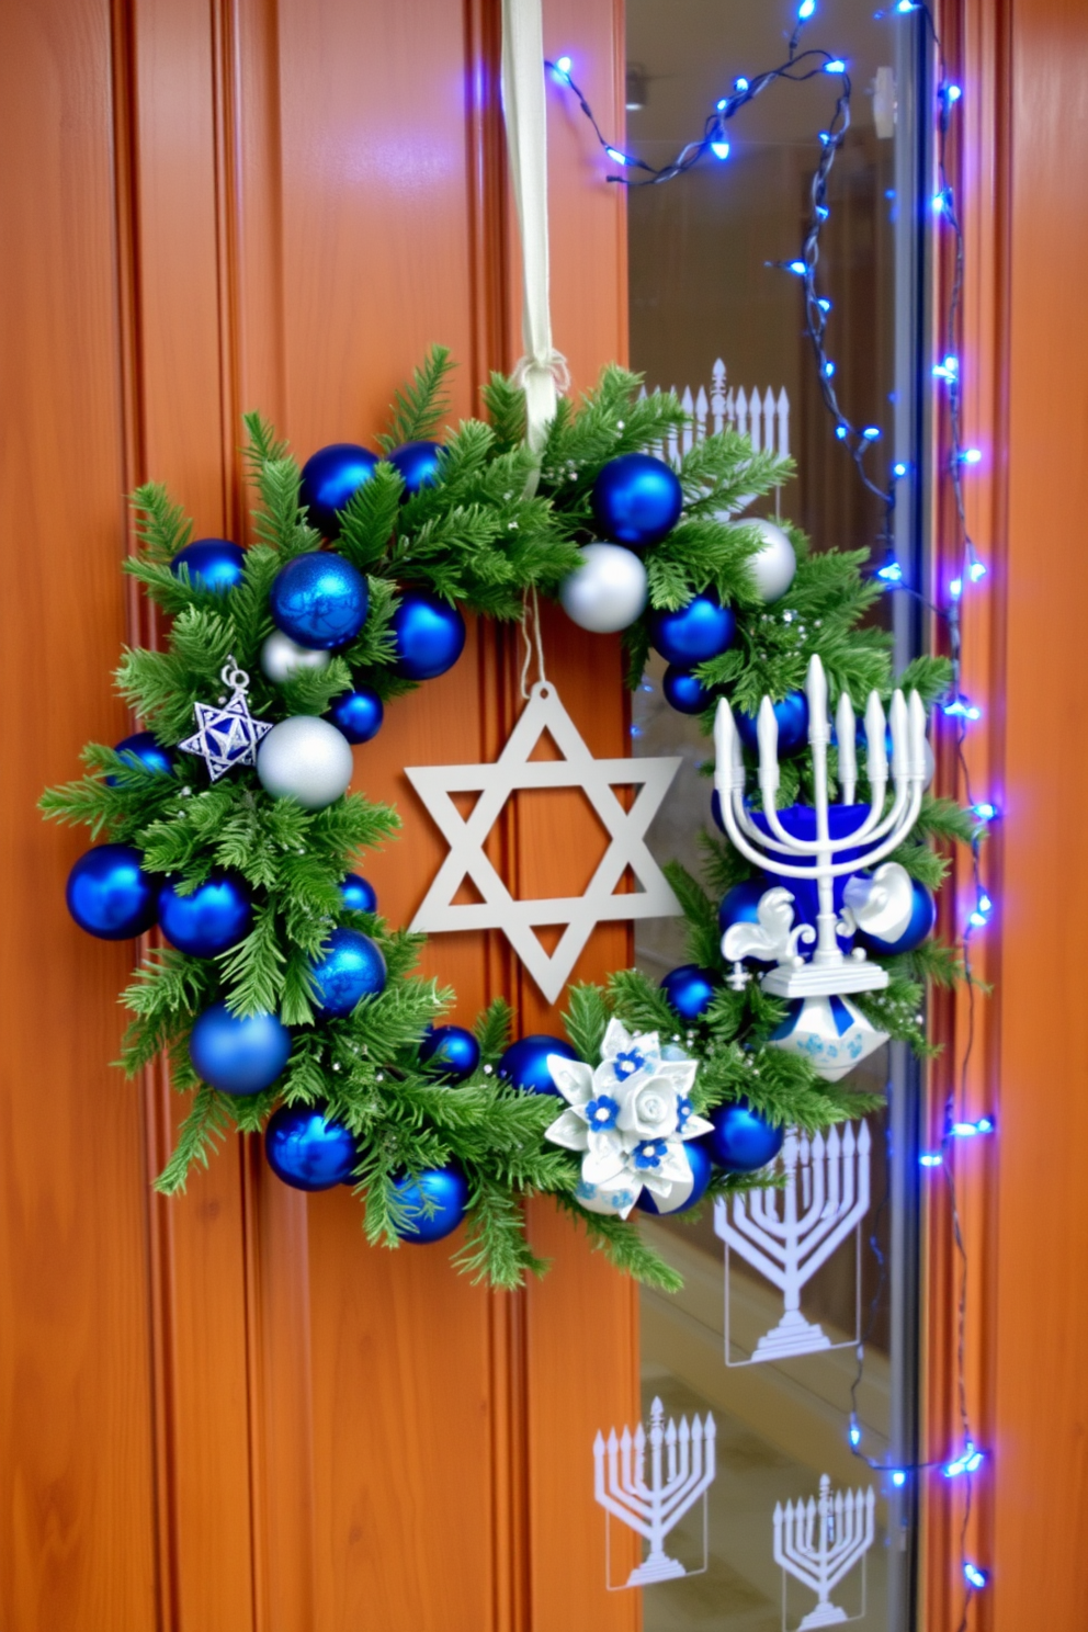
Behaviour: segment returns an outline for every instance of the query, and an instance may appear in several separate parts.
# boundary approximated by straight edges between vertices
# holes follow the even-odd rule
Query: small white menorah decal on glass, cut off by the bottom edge
[[[786,1575],[816,1593],[817,1604],[811,1609],[798,1632],[809,1627],[838,1625],[842,1621],[865,1617],[865,1573],[861,1577],[861,1614],[848,1616],[830,1594],[838,1583],[865,1559],[876,1534],[876,1497],[869,1490],[837,1490],[832,1497],[830,1479],[820,1475],[820,1500],[775,1503],[775,1563],[781,1565],[781,1624],[786,1625]]]

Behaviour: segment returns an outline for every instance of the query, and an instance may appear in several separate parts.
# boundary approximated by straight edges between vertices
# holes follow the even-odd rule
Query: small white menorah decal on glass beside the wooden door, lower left
[[[649,1482],[646,1480],[646,1446],[649,1444]],[[666,1554],[666,1536],[700,1497],[705,1497],[714,1480],[714,1418],[708,1413],[701,1423],[687,1417],[680,1426],[669,1418],[664,1425],[664,1407],[654,1400],[649,1418],[649,1435],[639,1423],[631,1433],[623,1428],[617,1438],[615,1428],[594,1441],[594,1493],[597,1501],[630,1529],[649,1542],[649,1554],[626,1578],[625,1586],[648,1586],[651,1581],[672,1581],[679,1575],[700,1575],[701,1570],[685,1570],[677,1559]],[[608,1537],[605,1519],[605,1544]],[[703,1570],[706,1568],[706,1506],[703,1505]],[[610,1560],[605,1562],[605,1583],[613,1591]]]

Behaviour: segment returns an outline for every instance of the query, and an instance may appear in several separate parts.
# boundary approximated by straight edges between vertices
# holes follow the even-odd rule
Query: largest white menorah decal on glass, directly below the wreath
[[[827,1138],[817,1133],[812,1139],[791,1128],[775,1164],[785,1173],[781,1190],[752,1190],[734,1196],[732,1217],[724,1196],[714,1203],[714,1234],[726,1244],[728,1366],[750,1366],[763,1359],[847,1346],[832,1343],[819,1324],[804,1319],[801,1289],[869,1211],[871,1144],[865,1121],[856,1136],[853,1123],[847,1123],[842,1134],[838,1128],[832,1128]],[[785,1294],[781,1320],[763,1333],[750,1359],[742,1361],[729,1358],[729,1250]],[[858,1301],[860,1262],[855,1288]],[[858,1327],[860,1309],[855,1314],[855,1335],[847,1343],[858,1342]]]

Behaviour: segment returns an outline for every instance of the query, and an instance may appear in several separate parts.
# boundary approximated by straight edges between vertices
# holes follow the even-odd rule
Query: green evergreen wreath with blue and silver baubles
[[[444,1025],[453,994],[414,973],[421,937],[387,925],[354,873],[398,818],[347,792],[349,744],[374,736],[385,703],[457,661],[462,607],[514,620],[542,592],[587,630],[625,630],[631,685],[656,648],[670,663],[666,697],[708,731],[728,698],[742,785],[754,788],[770,733],[783,819],[804,818],[820,778],[842,777],[838,809],[865,814],[869,800],[878,821],[897,808],[882,743],[855,765],[848,715],[851,764],[838,764],[834,739],[814,759],[814,694],[803,687],[819,658],[832,702],[892,700],[889,636],[865,627],[881,584],[863,576],[865,552],[811,553],[796,529],[739,514],[788,475],[745,437],[724,431],[661,459],[685,415],[670,393],[639,398],[621,369],[579,406],[559,403],[538,455],[525,446],[524,393],[499,375],[484,390],[486,421],[431,441],[447,369],[436,348],[398,393],[383,457],[338,444],[300,470],[250,415],[259,504],[246,550],[191,542],[163,488],[137,490],[140,548],[126,568],[170,619],[165,646],[126,650],[116,672],[142,730],[116,747],[90,744],[86,774],[49,790],[42,809],[96,840],[69,880],[77,922],[114,940],[161,929],[165,945],[144,953],[124,992],[121,1058],[135,1075],[165,1053],[175,1089],[191,1095],[160,1190],[183,1190],[230,1128],[264,1129],[287,1183],[354,1185],[370,1242],[437,1240],[467,1219],[455,1262],[515,1286],[543,1268],[522,1203],[551,1193],[613,1263],[675,1286],[633,1206],[680,1211],[773,1183],[767,1164],[786,1124],[814,1133],[878,1103],[838,1085],[842,1066],[820,1069],[819,1038],[786,1046],[799,1005],[752,978],[775,958],[801,965],[799,942],[816,940],[812,886],[770,888],[789,868],[762,875],[744,839],[706,836],[706,888],[666,868],[690,965],[661,987],[638,969],[571,987],[566,1040],[512,1040],[501,999],[473,1031]],[[944,661],[918,658],[897,684],[918,694],[917,712],[948,681]],[[882,736],[884,715],[871,710],[866,725]],[[896,744],[892,756],[899,777]],[[925,981],[959,969],[930,934],[948,865],[936,845],[971,842],[974,821],[928,793],[915,806],[891,854],[899,909],[863,878],[847,896],[855,916],[835,925],[887,979],[847,987],[848,1009],[822,1002],[838,1004],[829,1012],[840,1033],[856,1022],[869,1040],[927,1053]],[[741,792],[747,821],[745,808]],[[866,901],[878,904],[868,932]]]

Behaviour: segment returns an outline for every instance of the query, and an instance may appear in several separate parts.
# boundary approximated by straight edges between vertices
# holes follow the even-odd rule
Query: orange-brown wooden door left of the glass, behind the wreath
[[[18,1632],[628,1632],[592,1501],[597,1428],[636,1408],[636,1302],[548,1206],[551,1276],[491,1296],[445,1248],[367,1248],[357,1203],[305,1198],[233,1142],[176,1201],[150,1190],[178,1106],[126,1085],[132,948],[64,909],[77,834],[34,801],[127,728],[108,676],[147,638],[119,561],[124,493],[170,485],[245,540],[240,413],[305,457],[369,439],[431,341],[455,411],[517,356],[498,0],[31,0],[0,13],[0,594],[5,992],[0,1097],[0,1625]],[[613,0],[550,0],[594,104],[621,118]],[[625,348],[623,219],[551,109],[555,331],[576,388]],[[599,754],[620,754],[618,648],[548,620]],[[406,764],[493,757],[514,640],[391,710],[356,787],[405,836],[370,870],[406,920],[440,847]],[[559,796],[563,798],[563,796]],[[564,827],[563,857],[553,836]],[[525,893],[599,844],[574,805],[506,827]],[[551,891],[550,891],[551,893]],[[576,978],[628,958],[600,930]],[[489,935],[427,969],[458,1017],[507,992]]]

